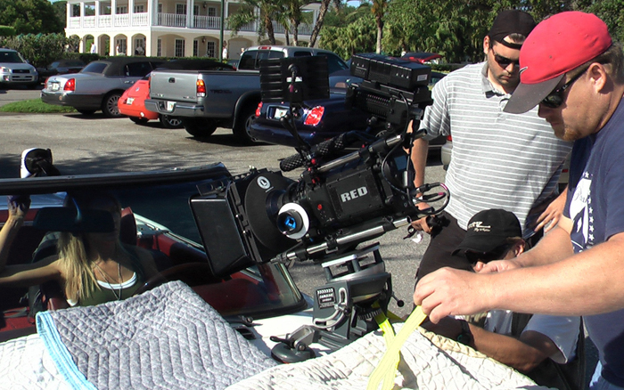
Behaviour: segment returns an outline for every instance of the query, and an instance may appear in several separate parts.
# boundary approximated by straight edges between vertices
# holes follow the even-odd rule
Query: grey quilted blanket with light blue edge
[[[220,389],[276,364],[179,281],[39,313],[37,332],[74,388]]]

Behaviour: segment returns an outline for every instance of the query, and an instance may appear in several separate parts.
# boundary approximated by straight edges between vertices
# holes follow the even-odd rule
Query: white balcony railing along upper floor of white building
[[[155,20],[152,21],[153,26],[165,26],[165,27],[178,27],[178,28],[191,28],[187,26],[187,20],[185,14],[177,13],[158,13]],[[221,18],[218,16],[193,16],[193,29],[219,29],[221,25]],[[135,12],[130,17],[129,13],[118,13],[115,15],[99,15],[99,16],[72,16],[69,20],[68,28],[119,28],[119,27],[131,27],[131,26],[149,26],[149,18],[147,12]],[[226,29],[227,28],[226,26]],[[279,24],[274,24],[275,33],[283,33],[285,28]],[[254,32],[258,30],[258,22],[252,21],[243,25],[239,31]],[[299,27],[300,35],[310,35],[312,32],[312,26],[308,24],[301,24]]]

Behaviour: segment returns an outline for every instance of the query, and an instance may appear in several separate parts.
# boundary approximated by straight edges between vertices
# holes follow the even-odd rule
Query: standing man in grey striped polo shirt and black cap
[[[416,230],[431,233],[417,280],[445,266],[472,269],[463,256],[451,252],[464,240],[468,220],[481,210],[513,212],[525,239],[544,226],[553,227],[562,215],[565,193],[557,197],[557,182],[571,143],[554,136],[537,108],[520,115],[503,111],[520,82],[521,45],[534,27],[526,12],[499,13],[483,39],[487,60],[458,69],[433,87],[433,105],[420,124],[427,135],[412,150],[415,185],[425,183],[428,140],[450,134],[446,184],[451,196],[438,229],[432,232],[425,218],[413,223]]]

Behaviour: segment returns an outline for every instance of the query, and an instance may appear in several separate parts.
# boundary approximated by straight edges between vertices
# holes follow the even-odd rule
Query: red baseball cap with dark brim
[[[565,77],[612,45],[607,25],[593,13],[561,12],[538,23],[520,50],[520,85],[504,111],[527,112]]]

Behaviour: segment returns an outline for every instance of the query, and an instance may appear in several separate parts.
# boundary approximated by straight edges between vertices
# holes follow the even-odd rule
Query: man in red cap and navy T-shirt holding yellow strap
[[[593,14],[538,24],[520,55],[521,84],[505,110],[539,106],[574,141],[564,216],[538,246],[480,274],[443,269],[414,300],[431,321],[491,308],[583,315],[600,358],[592,388],[624,388],[624,53]],[[492,272],[486,273],[485,272]]]

